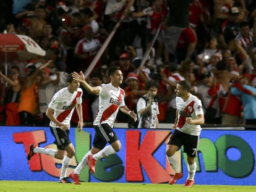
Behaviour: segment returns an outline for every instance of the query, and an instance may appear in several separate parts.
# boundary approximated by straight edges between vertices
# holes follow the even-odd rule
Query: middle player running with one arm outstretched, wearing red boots
[[[93,121],[93,127],[96,131],[93,147],[83,156],[82,161],[74,169],[74,172],[69,175],[76,185],[80,185],[79,173],[87,164],[90,171],[95,173],[95,165],[99,159],[120,151],[121,142],[113,130],[118,110],[120,109],[125,114],[130,115],[135,121],[137,121],[137,115],[134,111],[130,111],[124,102],[125,92],[119,87],[124,78],[120,67],[111,67],[108,71],[110,83],[100,86],[90,86],[85,81],[82,72],[73,72],[72,75],[74,80],[80,81],[81,85],[89,93],[99,95],[99,111]],[[106,146],[107,143],[109,145]]]

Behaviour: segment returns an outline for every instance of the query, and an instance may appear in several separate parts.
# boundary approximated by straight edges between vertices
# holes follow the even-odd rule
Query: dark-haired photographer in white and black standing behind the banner
[[[147,81],[145,88],[147,94],[137,102],[138,128],[158,128],[158,83],[154,80]]]

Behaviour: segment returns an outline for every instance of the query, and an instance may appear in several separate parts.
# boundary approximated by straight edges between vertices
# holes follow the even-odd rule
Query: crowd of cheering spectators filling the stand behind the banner
[[[173,2],[173,1],[170,1]],[[256,125],[256,1],[194,0],[189,25],[177,38],[176,49],[164,46],[169,1],[23,0],[0,2],[1,33],[30,36],[45,57],[1,62],[1,124],[49,125],[45,115],[56,91],[66,86],[71,72],[87,70],[102,44],[124,14],[107,48],[87,81],[108,83],[108,69],[119,65],[124,74],[129,109],[147,93],[145,83],[158,82],[160,123],[176,117],[175,88],[189,80],[202,99],[205,123]],[[174,18],[179,22],[179,18]],[[160,30],[150,54],[143,55]],[[48,62],[49,61],[49,62]],[[143,65],[141,65],[143,62]],[[7,82],[7,83],[6,83]],[[92,122],[98,96],[83,92],[83,120]],[[72,122],[77,123],[74,114]],[[119,112],[117,122],[127,123]]]

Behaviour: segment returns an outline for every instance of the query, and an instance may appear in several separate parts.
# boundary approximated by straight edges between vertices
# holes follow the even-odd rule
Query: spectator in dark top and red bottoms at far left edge
[[[4,105],[6,107],[6,125],[20,125],[20,117],[18,112],[20,90],[22,88],[19,80],[19,68],[12,66],[9,70],[9,77],[0,72],[0,77],[8,83],[4,97]],[[2,88],[4,89],[4,88]]]

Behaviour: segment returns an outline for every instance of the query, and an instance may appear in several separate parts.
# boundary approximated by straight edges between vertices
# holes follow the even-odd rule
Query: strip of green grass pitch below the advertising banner
[[[142,184],[142,183],[87,183],[74,185],[74,183],[58,182],[27,182],[27,181],[0,181],[0,191],[3,192],[255,192],[256,186],[236,185],[194,185],[186,188],[183,185]]]

